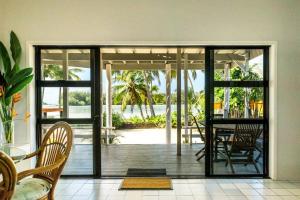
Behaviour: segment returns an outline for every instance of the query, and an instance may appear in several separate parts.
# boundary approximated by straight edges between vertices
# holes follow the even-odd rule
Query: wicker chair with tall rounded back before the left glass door
[[[50,187],[47,194],[38,199],[54,199],[55,186],[69,157],[72,141],[71,127],[65,122],[57,122],[46,133],[40,148],[26,156],[25,159],[37,156],[36,168],[19,173],[18,181],[27,185],[30,181],[38,182],[38,185]],[[23,180],[28,176],[33,177]],[[19,199],[18,195],[15,194],[13,199]]]

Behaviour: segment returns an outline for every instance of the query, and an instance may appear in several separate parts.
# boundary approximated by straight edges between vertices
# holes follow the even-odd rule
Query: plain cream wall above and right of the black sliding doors
[[[28,41],[277,41],[274,177],[300,180],[299,0],[10,0],[1,6],[3,3],[5,34],[14,30],[24,49]],[[25,105],[20,109],[26,110]],[[28,134],[25,139],[29,140]]]

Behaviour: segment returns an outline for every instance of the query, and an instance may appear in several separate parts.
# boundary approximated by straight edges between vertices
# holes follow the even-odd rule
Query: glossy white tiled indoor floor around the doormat
[[[56,188],[56,199],[300,199],[300,181],[272,181],[269,179],[173,179],[173,190],[140,191],[119,191],[120,183],[120,179],[61,179]]]

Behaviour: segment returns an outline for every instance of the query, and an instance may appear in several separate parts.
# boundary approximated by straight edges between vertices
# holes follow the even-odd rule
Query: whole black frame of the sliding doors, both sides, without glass
[[[58,121],[66,121],[70,124],[92,124],[93,125],[93,174],[92,175],[64,175],[64,177],[93,177],[101,178],[101,142],[100,142],[100,130],[102,129],[102,66],[101,66],[101,54],[100,50],[103,47],[178,47],[178,48],[188,48],[188,47],[198,47],[205,48],[205,116],[206,124],[208,127],[212,127],[212,123],[242,123],[244,120],[217,120],[211,117],[211,108],[213,108],[213,88],[226,87],[226,86],[262,86],[264,87],[264,119],[259,120],[247,120],[248,123],[260,122],[264,124],[264,142],[263,142],[263,156],[264,156],[264,166],[263,174],[249,175],[249,174],[238,174],[238,175],[214,175],[212,174],[212,163],[211,163],[211,153],[213,148],[211,133],[211,128],[206,128],[206,155],[205,156],[205,176],[206,177],[268,177],[269,176],[269,47],[270,46],[252,46],[252,45],[231,45],[231,46],[216,46],[216,45],[35,45],[35,96],[36,96],[36,143],[37,147],[41,144],[41,128],[42,124],[52,124]],[[41,50],[42,49],[90,49],[91,52],[91,79],[90,81],[44,81],[41,80]],[[220,81],[219,83],[214,83],[213,69],[214,69],[214,58],[213,54],[210,52],[214,49],[263,49],[264,52],[264,75],[263,83],[258,83],[257,81],[250,81],[251,83],[226,83],[225,81]],[[181,76],[181,73],[179,73]],[[233,81],[231,81],[233,82]],[[91,88],[91,118],[59,118],[59,119],[43,119],[42,118],[42,102],[41,102],[41,88],[42,87],[90,87]],[[180,91],[181,92],[181,91]],[[178,120],[178,119],[177,119]],[[181,121],[181,118],[179,119]],[[180,178],[180,177],[179,177]]]

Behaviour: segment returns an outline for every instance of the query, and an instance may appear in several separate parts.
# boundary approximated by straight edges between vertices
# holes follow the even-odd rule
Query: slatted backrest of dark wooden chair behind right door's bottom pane
[[[256,140],[261,133],[262,129],[259,124],[237,124],[232,142],[232,150],[247,150],[252,153],[256,145]]]

